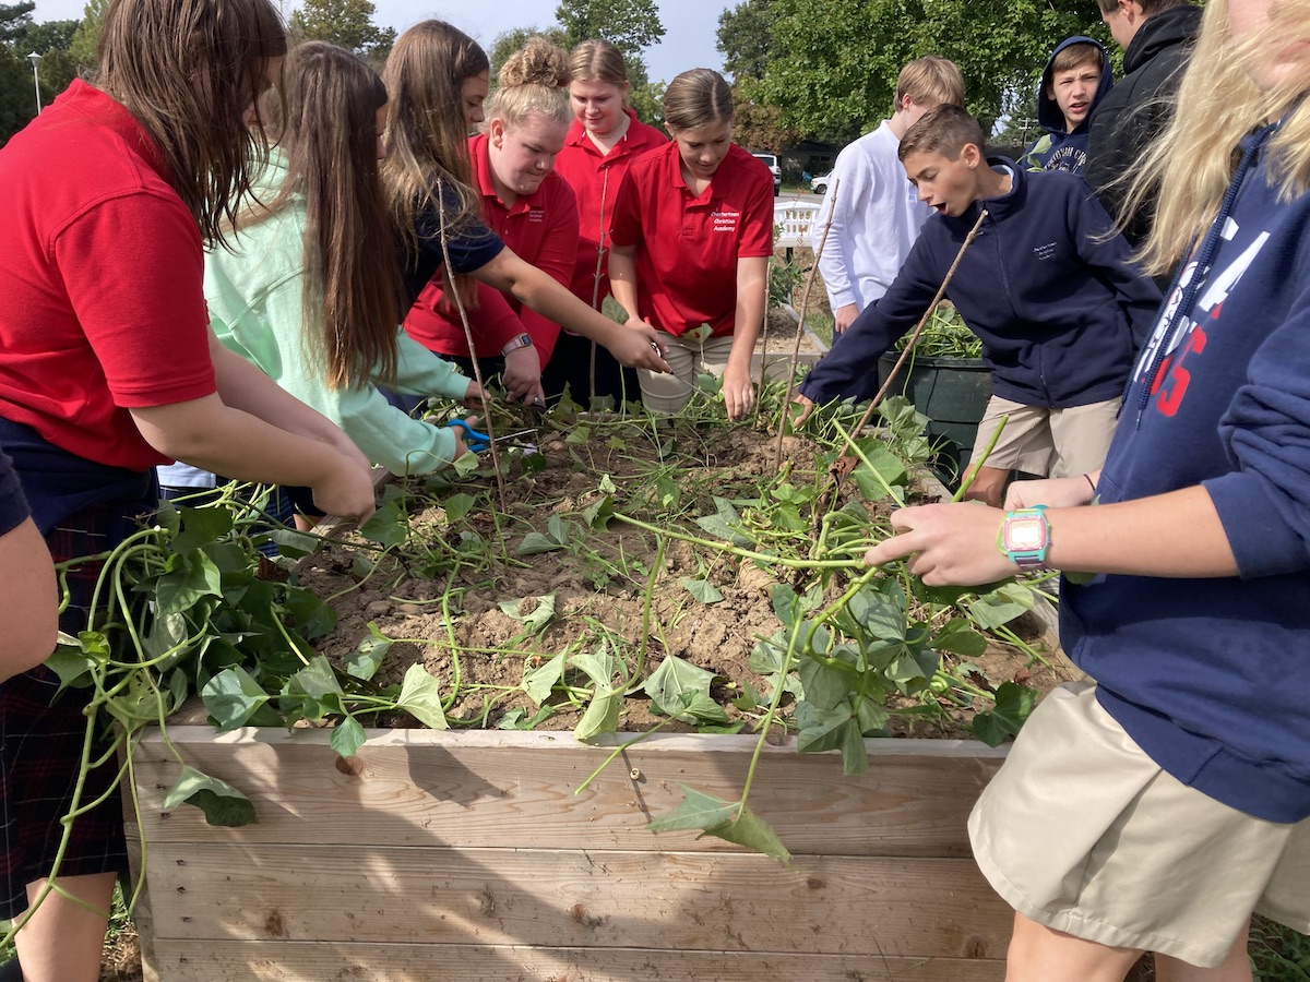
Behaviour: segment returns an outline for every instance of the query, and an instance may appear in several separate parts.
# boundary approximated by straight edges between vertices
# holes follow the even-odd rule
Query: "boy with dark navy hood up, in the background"
[[[1091,113],[1114,85],[1106,48],[1082,35],[1061,41],[1038,85],[1038,123],[1047,131],[1019,160],[1027,170],[1082,173]]]

